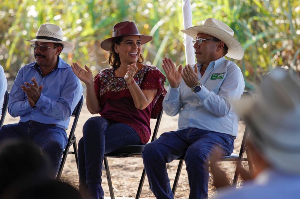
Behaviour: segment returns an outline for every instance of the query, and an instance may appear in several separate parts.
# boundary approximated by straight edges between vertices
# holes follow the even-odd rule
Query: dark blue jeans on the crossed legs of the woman
[[[104,195],[101,187],[104,154],[127,145],[140,145],[137,132],[123,123],[103,117],[91,117],[83,126],[83,137],[78,142],[79,192],[85,198],[99,199]],[[100,193],[91,194],[88,183],[99,183]],[[94,190],[95,192],[95,190]],[[100,197],[99,197],[100,196]]]

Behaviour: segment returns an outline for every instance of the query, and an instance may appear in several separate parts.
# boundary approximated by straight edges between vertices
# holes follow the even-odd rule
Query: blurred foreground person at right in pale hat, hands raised
[[[241,189],[218,190],[216,198],[299,198],[300,82],[289,71],[275,69],[262,81],[258,96],[236,105],[250,126],[248,147],[254,174],[244,169]],[[220,157],[213,154],[214,160]],[[211,162],[214,183],[228,185],[224,172]],[[223,181],[223,182],[220,182]]]

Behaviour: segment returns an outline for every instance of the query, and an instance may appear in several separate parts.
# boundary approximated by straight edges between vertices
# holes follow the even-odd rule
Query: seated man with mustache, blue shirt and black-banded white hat
[[[36,62],[23,66],[9,95],[8,112],[19,123],[0,129],[0,142],[22,139],[35,143],[58,171],[67,144],[70,116],[82,95],[82,85],[70,65],[59,57],[74,45],[62,41],[63,31],[54,24],[42,24],[36,38],[27,40]]]

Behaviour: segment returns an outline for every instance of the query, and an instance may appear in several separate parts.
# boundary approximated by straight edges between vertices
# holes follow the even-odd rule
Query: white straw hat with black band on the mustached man
[[[62,53],[68,53],[74,49],[74,44],[71,42],[62,41],[63,32],[60,26],[55,24],[42,24],[38,29],[38,33],[35,39],[28,40],[31,43],[35,42],[52,42],[52,43],[61,43],[64,45],[64,49],[62,49]]]

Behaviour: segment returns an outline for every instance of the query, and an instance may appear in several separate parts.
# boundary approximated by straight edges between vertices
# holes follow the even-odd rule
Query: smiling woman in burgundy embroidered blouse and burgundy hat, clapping
[[[77,63],[72,68],[86,85],[86,105],[91,117],[83,126],[78,143],[79,191],[83,198],[99,199],[104,154],[126,145],[146,144],[151,135],[150,118],[162,109],[166,78],[158,68],[144,65],[142,45],[152,36],[141,35],[134,22],[113,27],[113,37],[101,42],[109,51],[110,67],[93,80],[90,69]]]

